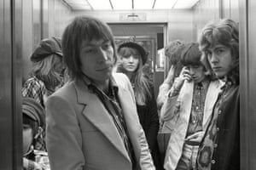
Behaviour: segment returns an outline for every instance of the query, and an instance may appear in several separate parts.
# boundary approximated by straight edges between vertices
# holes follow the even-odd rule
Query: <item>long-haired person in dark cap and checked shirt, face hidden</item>
[[[63,85],[61,39],[49,37],[40,42],[31,56],[30,77],[23,84],[22,95],[36,99],[44,107],[47,96]]]

